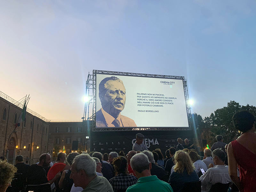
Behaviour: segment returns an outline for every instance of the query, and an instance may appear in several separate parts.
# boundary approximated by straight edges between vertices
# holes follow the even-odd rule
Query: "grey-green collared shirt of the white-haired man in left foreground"
[[[113,188],[105,177],[96,176],[82,192],[113,192]]]

